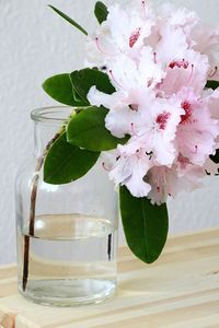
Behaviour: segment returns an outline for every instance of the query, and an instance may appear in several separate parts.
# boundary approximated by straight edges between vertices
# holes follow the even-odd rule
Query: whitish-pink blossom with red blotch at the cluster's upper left
[[[94,36],[88,37],[87,65],[107,67],[107,62],[120,54],[138,58],[153,25],[154,17],[145,1],[135,1],[128,10],[118,4],[111,5],[107,21],[101,24]]]

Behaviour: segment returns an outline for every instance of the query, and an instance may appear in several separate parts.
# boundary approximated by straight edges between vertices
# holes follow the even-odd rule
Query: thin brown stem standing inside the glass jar
[[[36,213],[36,197],[38,189],[38,181],[41,177],[41,171],[44,165],[45,157],[53,145],[53,143],[59,138],[61,133],[57,133],[46,145],[43,155],[37,160],[36,169],[32,181],[32,192],[31,192],[31,207],[30,207],[30,226],[28,235],[24,236],[24,265],[23,265],[23,291],[26,290],[26,284],[28,280],[28,261],[30,261],[30,242],[31,236],[34,236],[35,233],[35,213]]]

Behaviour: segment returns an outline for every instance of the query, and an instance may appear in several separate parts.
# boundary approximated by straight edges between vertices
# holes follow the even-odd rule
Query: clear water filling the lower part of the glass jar
[[[100,218],[42,215],[34,237],[18,232],[19,290],[37,303],[72,306],[99,303],[116,289],[117,230]],[[30,238],[23,291],[24,239]]]

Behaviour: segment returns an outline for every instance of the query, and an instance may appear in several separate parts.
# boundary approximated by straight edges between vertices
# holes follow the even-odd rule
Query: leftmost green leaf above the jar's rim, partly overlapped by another
[[[47,79],[43,83],[44,91],[57,102],[69,106],[84,106],[87,103],[76,99],[69,74],[59,74]]]

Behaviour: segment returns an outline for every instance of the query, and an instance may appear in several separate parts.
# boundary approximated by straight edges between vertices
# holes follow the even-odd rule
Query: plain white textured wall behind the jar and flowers
[[[51,0],[88,31],[94,27],[94,0]],[[112,3],[114,1],[107,1]],[[120,2],[120,0],[118,0]],[[163,1],[154,1],[163,2]],[[218,0],[175,0],[218,22]],[[32,152],[30,110],[53,105],[41,89],[47,77],[80,68],[83,36],[46,8],[47,0],[0,0],[0,263],[15,260],[13,181]],[[170,202],[171,231],[219,225],[217,179]]]

